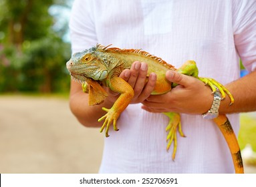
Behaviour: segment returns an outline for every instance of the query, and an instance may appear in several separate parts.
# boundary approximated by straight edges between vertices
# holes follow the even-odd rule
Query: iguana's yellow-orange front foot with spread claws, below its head
[[[101,122],[102,120],[105,119],[104,124],[102,125],[102,128],[100,129],[100,132],[103,132],[104,128],[106,128],[105,132],[106,132],[106,137],[108,137],[108,130],[110,129],[110,125],[113,122],[113,126],[114,126],[114,130],[118,131],[118,128],[116,127],[116,120],[118,119],[118,114],[116,112],[114,112],[112,109],[107,109],[107,108],[102,108],[102,110],[104,110],[105,112],[107,112],[107,114],[105,114],[104,116],[102,116],[102,118],[100,118],[98,120],[98,122]]]

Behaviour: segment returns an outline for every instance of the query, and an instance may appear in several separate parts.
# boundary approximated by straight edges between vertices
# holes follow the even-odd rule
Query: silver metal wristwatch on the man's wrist
[[[217,118],[219,116],[220,104],[221,104],[221,92],[219,91],[219,89],[217,89],[213,95],[213,104],[211,106],[211,109],[205,114],[202,114],[202,117],[207,120],[212,120],[214,118]]]

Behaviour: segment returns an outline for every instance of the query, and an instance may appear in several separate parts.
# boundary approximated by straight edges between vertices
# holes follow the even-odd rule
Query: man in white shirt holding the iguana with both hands
[[[256,110],[256,3],[255,1],[82,1],[76,0],[70,19],[72,51],[96,43],[143,49],[175,67],[193,59],[200,77],[223,83],[235,98],[221,101],[220,114],[238,133],[238,112]],[[249,75],[239,79],[239,57]],[[205,120],[213,104],[211,89],[175,71],[166,79],[179,85],[166,94],[150,96],[156,74],[144,87],[147,65],[136,61],[120,77],[134,87],[132,103],[118,119],[119,132],[105,139],[101,173],[232,173],[233,162],[221,132]],[[102,106],[110,108],[117,93],[99,106],[88,106],[88,95],[72,81],[70,108],[84,126],[100,127]],[[186,138],[178,137],[175,162],[166,152],[168,118],[160,112],[181,114]],[[170,148],[172,149],[172,148]]]

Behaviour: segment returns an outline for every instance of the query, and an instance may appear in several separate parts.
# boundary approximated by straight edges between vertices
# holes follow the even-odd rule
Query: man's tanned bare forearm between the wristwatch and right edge
[[[232,93],[235,103],[229,106],[230,100],[228,97],[225,98],[221,102],[220,113],[229,114],[256,110],[256,71],[225,85],[225,87]]]

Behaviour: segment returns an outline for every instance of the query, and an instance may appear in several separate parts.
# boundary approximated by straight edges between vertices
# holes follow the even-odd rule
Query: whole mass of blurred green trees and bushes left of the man
[[[0,0],[0,91],[67,91],[66,61],[70,43],[63,41],[67,23],[53,29],[53,5],[70,0]],[[59,18],[61,19],[61,18]]]

